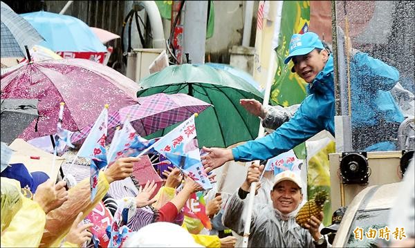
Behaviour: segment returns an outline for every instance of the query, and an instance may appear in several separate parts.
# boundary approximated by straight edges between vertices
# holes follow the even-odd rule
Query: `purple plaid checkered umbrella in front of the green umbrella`
[[[190,95],[178,93],[168,95],[159,93],[147,97],[138,98],[138,104],[120,108],[118,111],[110,111],[108,117],[108,141],[110,142],[116,126],[129,120],[137,133],[147,136],[177,122],[186,120],[194,113],[201,113],[212,106]],[[71,137],[71,142],[84,140],[93,126],[93,122],[76,132]]]

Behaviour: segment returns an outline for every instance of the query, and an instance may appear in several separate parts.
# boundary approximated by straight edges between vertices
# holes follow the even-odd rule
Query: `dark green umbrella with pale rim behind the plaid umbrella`
[[[262,102],[263,93],[225,70],[206,65],[168,66],[142,79],[140,86],[143,89],[138,91],[138,97],[156,93],[185,93],[213,105],[196,118],[199,146],[228,147],[237,142],[254,140],[258,135],[259,118],[250,115],[239,104],[239,99],[254,98]],[[177,125],[147,138],[163,136]]]

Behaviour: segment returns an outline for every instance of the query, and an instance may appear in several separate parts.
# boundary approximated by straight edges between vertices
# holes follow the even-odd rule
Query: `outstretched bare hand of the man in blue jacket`
[[[207,148],[203,146],[203,150],[208,152],[208,154],[201,157],[206,173],[222,166],[225,162],[234,160],[231,149],[217,147]]]

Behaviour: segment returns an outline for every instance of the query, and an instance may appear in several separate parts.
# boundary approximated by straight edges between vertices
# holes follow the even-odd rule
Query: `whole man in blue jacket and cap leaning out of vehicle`
[[[232,150],[203,148],[210,152],[202,157],[207,171],[229,160],[272,158],[293,149],[324,129],[334,135],[333,57],[324,49],[315,33],[306,32],[291,38],[290,53],[284,63],[288,64],[291,59],[294,62],[293,71],[308,83],[308,97],[295,115],[284,116],[284,121],[289,121],[279,124],[281,126],[271,135]],[[354,148],[366,151],[394,150],[394,143],[388,138],[396,136],[403,115],[387,90],[398,81],[398,71],[366,53],[353,54],[351,71]],[[379,127],[385,128],[379,131]]]

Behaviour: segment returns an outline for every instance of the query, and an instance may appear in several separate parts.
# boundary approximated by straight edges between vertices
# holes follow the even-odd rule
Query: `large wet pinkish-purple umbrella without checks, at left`
[[[116,70],[87,59],[39,61],[1,75],[1,99],[39,99],[39,120],[19,136],[25,140],[56,133],[60,102],[62,127],[80,131],[95,122],[104,104],[110,110],[136,104],[138,89]]]

